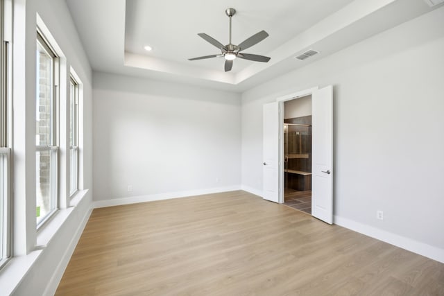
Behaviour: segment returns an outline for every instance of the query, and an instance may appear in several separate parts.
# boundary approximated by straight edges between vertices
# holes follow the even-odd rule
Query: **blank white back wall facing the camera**
[[[96,72],[93,81],[94,200],[240,188],[239,94]]]

